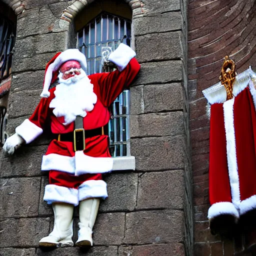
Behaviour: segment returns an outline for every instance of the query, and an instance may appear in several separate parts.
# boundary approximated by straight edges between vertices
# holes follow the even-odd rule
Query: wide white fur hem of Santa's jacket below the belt
[[[92,157],[82,151],[76,151],[75,156],[47,154],[42,156],[41,170],[59,170],[75,175],[85,173],[104,173],[112,170],[111,157]]]

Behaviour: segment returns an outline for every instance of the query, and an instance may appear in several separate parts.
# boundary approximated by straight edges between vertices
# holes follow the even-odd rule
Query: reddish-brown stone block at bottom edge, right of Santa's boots
[[[185,256],[184,244],[149,244],[149,245],[121,245],[118,248],[119,256]]]

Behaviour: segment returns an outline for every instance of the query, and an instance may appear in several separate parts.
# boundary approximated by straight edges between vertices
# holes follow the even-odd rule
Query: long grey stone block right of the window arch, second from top
[[[181,22],[181,14],[179,11],[167,12],[153,16],[142,16],[132,19],[135,36],[178,30],[181,29]]]

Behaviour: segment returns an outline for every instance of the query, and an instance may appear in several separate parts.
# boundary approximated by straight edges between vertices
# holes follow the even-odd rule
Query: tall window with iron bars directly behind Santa
[[[77,47],[87,58],[87,74],[102,70],[102,47],[114,50],[123,39],[130,46],[131,21],[101,13],[77,32]],[[124,90],[110,107],[108,122],[109,151],[112,156],[130,156],[129,90]]]

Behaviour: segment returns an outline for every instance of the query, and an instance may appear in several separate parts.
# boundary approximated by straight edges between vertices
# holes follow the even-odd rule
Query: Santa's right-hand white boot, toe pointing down
[[[92,246],[92,227],[98,212],[99,199],[90,198],[79,203],[79,230],[76,245]]]

